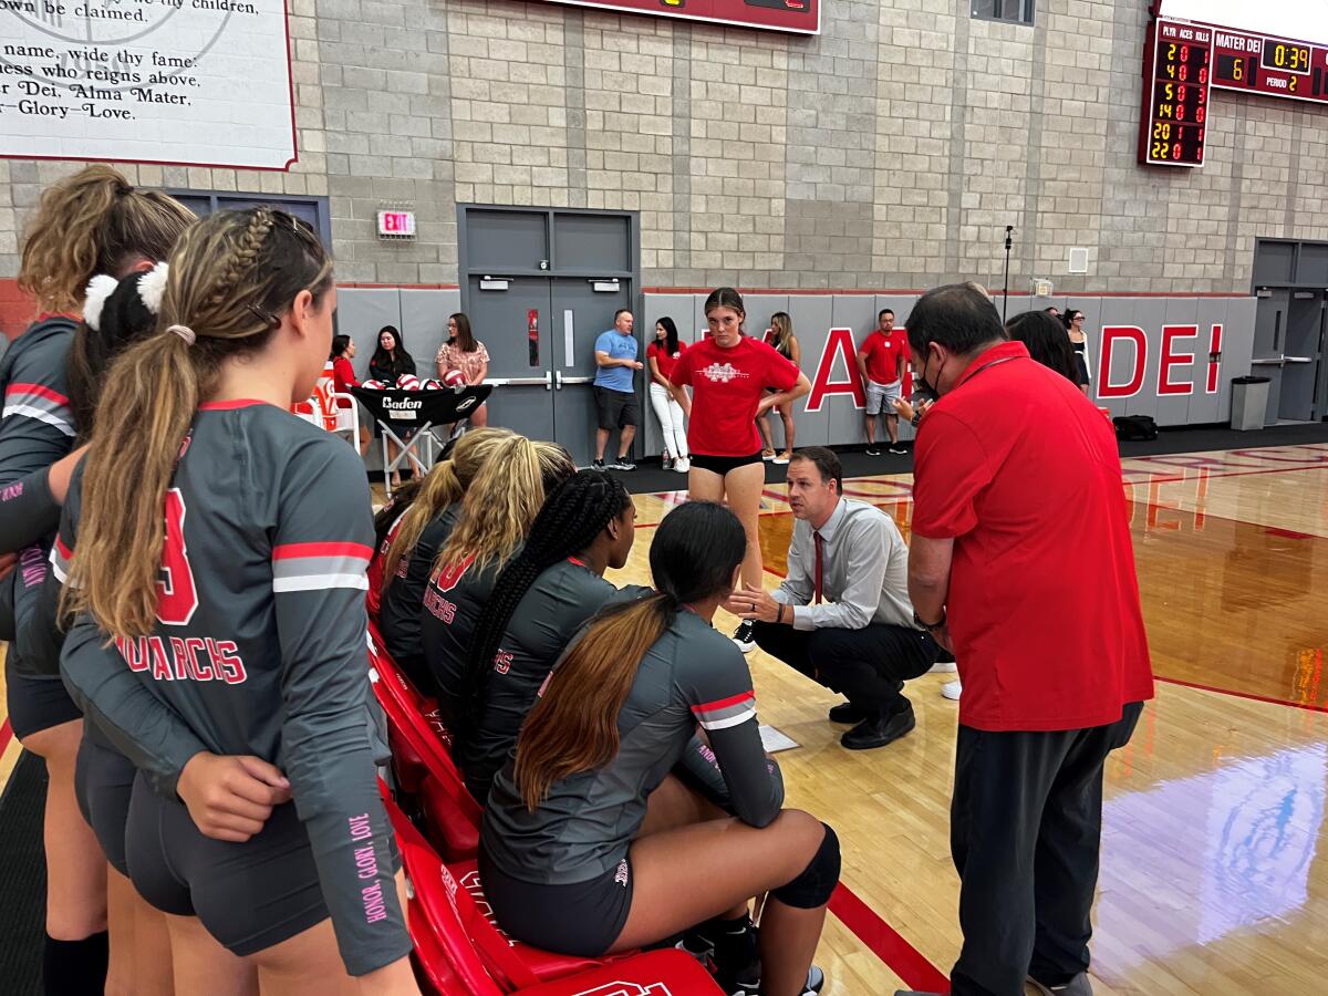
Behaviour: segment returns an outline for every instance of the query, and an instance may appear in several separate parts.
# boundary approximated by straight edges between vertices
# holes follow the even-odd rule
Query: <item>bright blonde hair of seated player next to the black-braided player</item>
[[[507,560],[526,539],[544,494],[575,473],[567,450],[556,444],[525,436],[503,440],[466,489],[461,518],[434,570],[470,559],[477,568]]]

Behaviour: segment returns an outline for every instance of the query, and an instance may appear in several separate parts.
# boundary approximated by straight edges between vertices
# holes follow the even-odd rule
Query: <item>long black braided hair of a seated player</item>
[[[548,495],[535,517],[526,546],[511,559],[485,603],[466,649],[462,721],[473,724],[485,669],[498,653],[507,623],[526,592],[547,568],[580,552],[632,503],[622,482],[598,470],[579,470]]]

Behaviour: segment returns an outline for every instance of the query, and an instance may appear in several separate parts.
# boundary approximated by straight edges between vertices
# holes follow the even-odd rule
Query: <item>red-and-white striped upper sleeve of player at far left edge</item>
[[[66,344],[65,336],[56,336],[25,348],[9,371],[0,418],[0,485],[49,467],[73,449],[74,418],[64,382]]]

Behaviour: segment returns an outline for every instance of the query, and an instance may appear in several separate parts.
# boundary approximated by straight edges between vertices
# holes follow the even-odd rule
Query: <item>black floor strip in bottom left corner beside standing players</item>
[[[41,817],[46,803],[46,766],[27,750],[19,757],[0,797],[0,988],[15,996],[41,992],[45,936],[46,859]]]

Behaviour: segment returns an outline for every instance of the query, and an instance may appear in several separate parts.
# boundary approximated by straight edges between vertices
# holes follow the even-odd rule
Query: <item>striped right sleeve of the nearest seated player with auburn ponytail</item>
[[[784,806],[784,780],[770,772],[756,717],[752,672],[737,647],[706,648],[691,668],[684,695],[710,741],[733,814],[769,826]],[[776,768],[776,770],[778,770]]]

